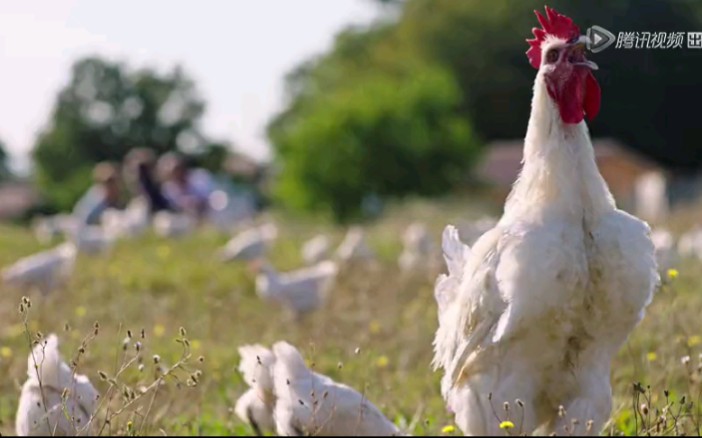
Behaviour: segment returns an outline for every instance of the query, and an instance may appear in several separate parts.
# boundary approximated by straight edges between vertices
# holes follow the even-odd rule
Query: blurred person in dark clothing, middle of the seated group
[[[124,180],[130,191],[146,199],[149,213],[173,210],[154,177],[156,154],[148,148],[134,148],[124,157]]]

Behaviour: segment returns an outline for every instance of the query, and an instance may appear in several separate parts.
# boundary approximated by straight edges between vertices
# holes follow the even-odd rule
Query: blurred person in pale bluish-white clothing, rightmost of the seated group
[[[177,210],[200,219],[208,213],[210,194],[216,184],[207,170],[192,168],[182,156],[169,152],[159,158],[158,172],[163,179],[163,193]]]

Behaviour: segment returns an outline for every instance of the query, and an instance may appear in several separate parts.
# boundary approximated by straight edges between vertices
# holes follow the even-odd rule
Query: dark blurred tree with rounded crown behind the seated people
[[[180,68],[130,72],[100,58],[79,60],[33,150],[39,189],[69,209],[89,186],[95,163],[120,161],[137,146],[162,153],[191,144],[201,138],[203,111]]]

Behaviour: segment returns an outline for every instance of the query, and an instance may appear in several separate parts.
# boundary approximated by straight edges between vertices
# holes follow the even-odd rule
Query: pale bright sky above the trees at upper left
[[[205,133],[265,159],[285,73],[377,14],[369,0],[0,0],[0,140],[27,169],[71,64],[98,54],[181,64],[207,102]]]

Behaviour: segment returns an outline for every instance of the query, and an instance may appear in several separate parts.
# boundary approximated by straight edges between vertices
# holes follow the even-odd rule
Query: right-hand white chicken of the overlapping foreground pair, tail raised
[[[281,436],[401,435],[380,410],[355,389],[307,368],[287,342],[273,345],[274,418]]]

